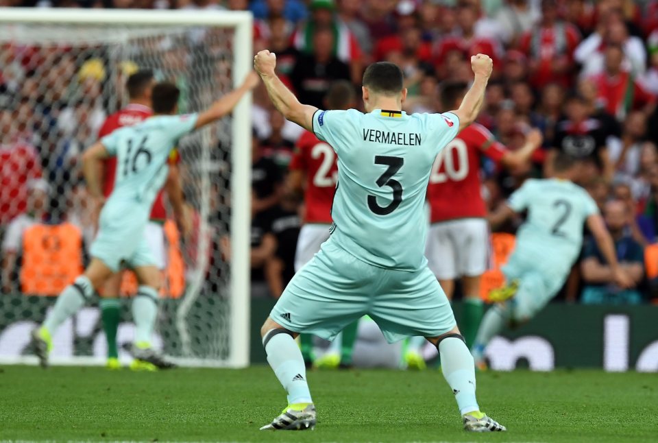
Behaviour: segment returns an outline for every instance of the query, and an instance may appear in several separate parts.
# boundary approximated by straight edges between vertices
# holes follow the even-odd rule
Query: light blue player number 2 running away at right
[[[492,226],[522,211],[528,219],[519,229],[516,246],[502,267],[506,285],[491,292],[499,301],[487,311],[472,348],[476,364],[486,368],[484,351],[504,326],[527,322],[564,285],[581,252],[583,224],[587,224],[616,283],[631,287],[633,281],[617,261],[612,238],[596,202],[585,189],[574,184],[580,170],[576,159],[558,152],[553,161],[554,178],[529,179],[515,191],[507,205],[489,216]]]

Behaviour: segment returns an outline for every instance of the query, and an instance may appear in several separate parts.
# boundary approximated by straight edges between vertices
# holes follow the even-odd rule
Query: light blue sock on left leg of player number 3
[[[302,351],[293,337],[272,330],[263,337],[267,362],[288,393],[288,404],[313,403],[306,383],[306,367]]]

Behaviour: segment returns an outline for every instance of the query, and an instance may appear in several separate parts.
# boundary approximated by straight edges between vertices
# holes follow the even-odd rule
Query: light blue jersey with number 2
[[[528,219],[517,233],[516,249],[564,263],[568,269],[581,252],[587,217],[598,213],[585,189],[556,178],[526,180],[508,204],[515,212],[528,210]]]

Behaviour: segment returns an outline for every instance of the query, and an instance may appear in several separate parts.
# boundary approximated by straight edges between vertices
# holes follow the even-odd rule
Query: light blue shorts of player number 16
[[[89,254],[113,272],[124,267],[156,265],[145,238],[149,214],[136,203],[109,204],[101,211],[99,232]]]

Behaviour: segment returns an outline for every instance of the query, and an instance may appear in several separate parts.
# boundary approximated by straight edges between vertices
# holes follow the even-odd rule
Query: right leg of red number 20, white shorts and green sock
[[[466,346],[472,346],[484,314],[484,302],[480,298],[480,277],[487,270],[489,252],[489,228],[485,219],[455,221],[452,237],[456,243],[457,274],[462,276],[464,293],[460,328]],[[445,290],[445,289],[444,289]]]

